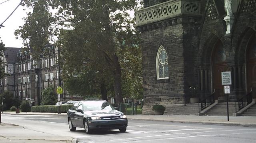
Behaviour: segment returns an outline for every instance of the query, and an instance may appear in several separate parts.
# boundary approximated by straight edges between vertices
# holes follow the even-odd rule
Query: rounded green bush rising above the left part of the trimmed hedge
[[[56,102],[57,98],[52,86],[42,90],[41,105],[55,105]]]

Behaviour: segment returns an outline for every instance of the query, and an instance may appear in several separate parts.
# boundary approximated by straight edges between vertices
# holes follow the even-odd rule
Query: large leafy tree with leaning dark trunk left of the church
[[[58,35],[57,33],[60,32],[58,28],[62,26],[72,29],[64,32],[61,37],[63,71],[66,70],[64,76],[70,78],[72,72],[88,73],[80,66],[88,67],[87,69],[92,71],[89,73],[101,75],[95,76],[94,79],[100,85],[101,91],[106,91],[104,90],[106,85],[113,83],[116,103],[122,103],[122,69],[125,68],[122,68],[121,59],[126,60],[124,59],[126,53],[136,56],[138,53],[132,51],[139,49],[138,33],[132,27],[135,21],[128,14],[128,10],[138,8],[137,0],[46,0],[36,4],[28,0],[25,3],[27,6],[38,8],[40,14],[44,11],[45,15],[38,14],[37,17],[34,17],[36,15],[34,13],[29,15],[25,19],[28,22],[16,31],[16,35],[21,35],[22,39],[28,40],[32,39],[33,31],[36,31],[38,38],[42,36],[42,39],[49,40],[53,35]],[[48,16],[49,7],[58,10],[52,18]],[[38,13],[35,9],[34,12]],[[39,20],[49,23],[44,27]],[[50,32],[40,34],[42,33],[40,29],[44,31],[48,29]],[[30,41],[28,46],[33,49],[38,48],[35,51],[40,51],[42,49],[40,46],[47,42],[39,41],[38,47],[31,46],[37,44],[36,40]],[[65,66],[69,69],[65,69]]]

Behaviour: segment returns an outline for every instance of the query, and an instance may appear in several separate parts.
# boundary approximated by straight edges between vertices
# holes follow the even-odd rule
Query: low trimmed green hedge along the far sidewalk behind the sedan
[[[67,113],[71,107],[72,107],[72,104],[61,105],[60,111],[62,113]],[[52,113],[56,112],[57,113],[58,106],[55,106],[55,105],[32,106],[31,112],[52,112]]]

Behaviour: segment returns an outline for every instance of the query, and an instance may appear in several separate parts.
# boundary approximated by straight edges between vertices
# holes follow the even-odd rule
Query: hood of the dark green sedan
[[[106,116],[121,116],[124,115],[118,110],[95,110],[95,111],[85,111],[84,114],[87,116],[96,116],[96,117],[106,117]]]

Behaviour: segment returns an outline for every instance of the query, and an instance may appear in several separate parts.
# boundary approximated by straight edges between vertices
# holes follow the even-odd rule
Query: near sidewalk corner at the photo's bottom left
[[[0,124],[0,143],[76,143],[71,137],[25,129],[19,125]]]

